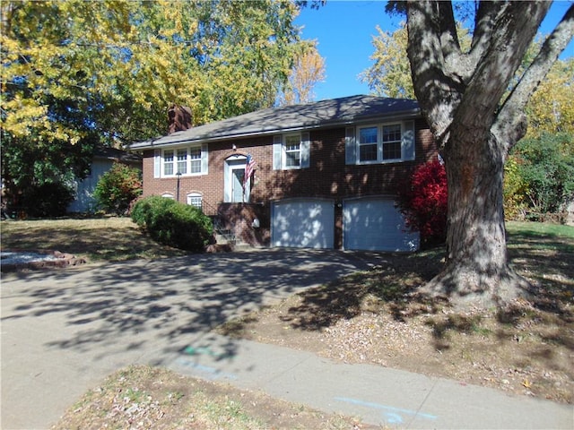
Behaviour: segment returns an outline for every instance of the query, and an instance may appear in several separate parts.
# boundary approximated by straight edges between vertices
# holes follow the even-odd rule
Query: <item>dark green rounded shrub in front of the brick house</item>
[[[132,220],[153,240],[196,253],[209,244],[213,231],[211,219],[200,209],[159,196],[136,202]]]

